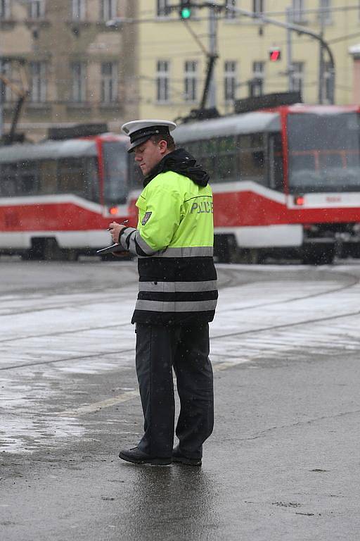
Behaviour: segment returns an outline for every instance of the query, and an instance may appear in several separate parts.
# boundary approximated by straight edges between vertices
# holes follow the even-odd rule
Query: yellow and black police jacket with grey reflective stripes
[[[210,186],[167,171],[146,185],[136,206],[138,228],[125,228],[119,241],[139,257],[132,323],[212,321],[217,274]]]

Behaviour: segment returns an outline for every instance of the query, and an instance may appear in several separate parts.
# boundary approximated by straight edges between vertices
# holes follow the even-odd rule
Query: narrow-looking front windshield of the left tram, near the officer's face
[[[104,202],[124,203],[129,192],[127,173],[127,149],[117,141],[103,143]]]

